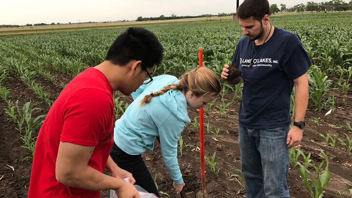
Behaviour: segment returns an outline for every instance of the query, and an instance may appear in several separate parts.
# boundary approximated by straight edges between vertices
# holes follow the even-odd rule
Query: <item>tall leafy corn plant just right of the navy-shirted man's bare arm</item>
[[[308,70],[308,82],[309,82],[309,108],[314,110],[322,110],[327,108],[324,100],[330,96],[329,91],[333,88],[331,86],[331,80],[328,80],[328,76],[323,74],[318,66],[311,66]]]

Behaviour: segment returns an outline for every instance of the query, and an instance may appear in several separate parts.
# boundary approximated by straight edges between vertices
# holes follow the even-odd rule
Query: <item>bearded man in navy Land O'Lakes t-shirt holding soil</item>
[[[289,198],[289,148],[303,136],[308,105],[309,57],[298,35],[269,22],[267,0],[244,0],[237,10],[243,30],[232,64],[242,72],[239,110],[241,168],[247,198]],[[221,78],[228,77],[228,65]],[[295,86],[292,129],[290,96]]]

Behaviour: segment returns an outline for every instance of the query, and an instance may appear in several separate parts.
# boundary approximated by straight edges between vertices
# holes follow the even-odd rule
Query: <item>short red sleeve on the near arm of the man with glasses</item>
[[[99,89],[81,89],[73,93],[63,108],[61,142],[96,146],[113,114],[111,96]]]

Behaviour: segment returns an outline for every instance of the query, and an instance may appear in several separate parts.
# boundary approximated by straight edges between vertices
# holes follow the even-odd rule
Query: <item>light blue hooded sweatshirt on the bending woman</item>
[[[191,122],[185,96],[180,90],[171,89],[154,96],[150,103],[139,106],[145,95],[178,82],[175,76],[156,76],[151,83],[133,92],[134,101],[115,122],[114,142],[127,154],[136,155],[147,149],[153,150],[155,137],[159,136],[164,164],[175,183],[181,184],[183,179],[177,161],[177,141],[185,123]]]

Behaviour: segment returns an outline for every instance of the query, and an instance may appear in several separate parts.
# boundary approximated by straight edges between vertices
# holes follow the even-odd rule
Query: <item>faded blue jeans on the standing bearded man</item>
[[[248,129],[239,124],[241,169],[247,198],[289,198],[289,125]]]

